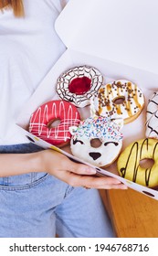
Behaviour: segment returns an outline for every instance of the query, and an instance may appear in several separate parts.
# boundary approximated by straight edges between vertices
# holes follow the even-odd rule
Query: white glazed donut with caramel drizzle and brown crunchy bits
[[[144,96],[131,81],[115,80],[102,86],[90,103],[92,116],[122,118],[124,123],[131,123],[142,112]]]

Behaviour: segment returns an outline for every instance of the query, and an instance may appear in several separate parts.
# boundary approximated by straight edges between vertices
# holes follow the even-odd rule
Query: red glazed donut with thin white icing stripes
[[[58,125],[54,126],[54,123]],[[70,142],[69,127],[79,125],[77,108],[68,101],[48,101],[33,112],[29,122],[29,132],[58,147]]]

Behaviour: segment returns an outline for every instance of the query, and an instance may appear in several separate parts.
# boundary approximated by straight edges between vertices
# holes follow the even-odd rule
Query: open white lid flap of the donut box
[[[157,0],[70,0],[56,30],[68,48],[158,74]]]

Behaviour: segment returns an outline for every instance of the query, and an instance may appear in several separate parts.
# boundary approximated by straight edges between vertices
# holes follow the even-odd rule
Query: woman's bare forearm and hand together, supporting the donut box
[[[30,172],[47,172],[72,187],[127,188],[113,177],[93,176],[95,168],[72,162],[66,155],[50,149],[31,154],[0,154],[0,176]]]

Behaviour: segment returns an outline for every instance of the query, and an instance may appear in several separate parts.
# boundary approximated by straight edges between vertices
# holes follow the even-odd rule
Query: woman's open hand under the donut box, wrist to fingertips
[[[127,187],[113,177],[94,176],[96,170],[88,165],[77,164],[56,151],[47,149],[40,152],[44,170],[72,187],[103,189],[126,189]]]

